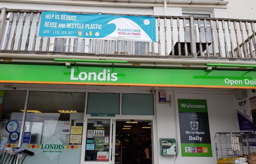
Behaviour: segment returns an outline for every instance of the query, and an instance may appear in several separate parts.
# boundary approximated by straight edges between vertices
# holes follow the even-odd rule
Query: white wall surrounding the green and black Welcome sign
[[[183,92],[183,93],[182,93]],[[171,107],[169,103],[159,104],[156,97],[156,120],[157,120],[157,138],[176,138],[175,134],[175,110],[177,123],[177,143],[178,157],[175,164],[216,164],[216,151],[214,134],[216,132],[231,132],[239,130],[237,112],[235,109],[235,96],[229,93],[210,93],[199,92],[196,89],[191,92],[187,91],[168,91],[166,90],[167,99],[171,95]],[[156,93],[158,96],[158,93]],[[180,129],[178,119],[177,99],[206,99],[208,105],[209,128],[211,135],[211,145],[213,157],[182,157],[180,147]],[[176,105],[174,105],[174,102]],[[175,109],[176,108],[176,109]],[[159,145],[158,145],[159,147]],[[158,148],[159,149],[159,148]],[[175,161],[175,157],[164,157],[158,154],[158,164],[170,164]]]

